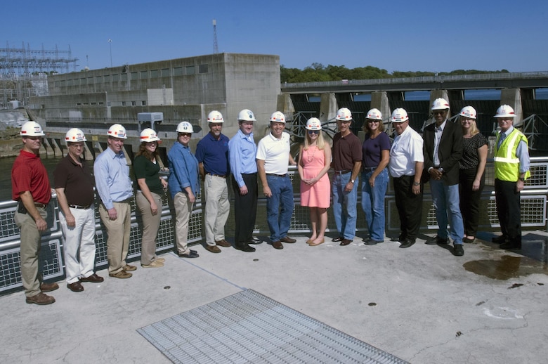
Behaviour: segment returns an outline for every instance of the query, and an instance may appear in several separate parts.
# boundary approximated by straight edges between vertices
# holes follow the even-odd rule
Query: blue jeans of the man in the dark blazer
[[[460,199],[458,183],[446,186],[443,181],[430,180],[430,190],[436,219],[438,220],[438,237],[447,239],[448,215],[450,219],[449,235],[454,244],[462,244],[464,225],[460,214]]]

